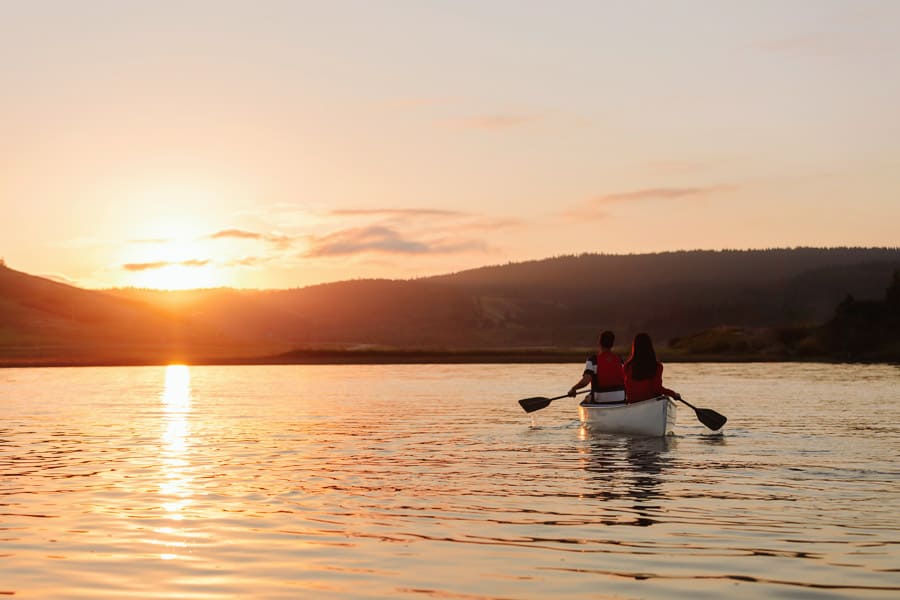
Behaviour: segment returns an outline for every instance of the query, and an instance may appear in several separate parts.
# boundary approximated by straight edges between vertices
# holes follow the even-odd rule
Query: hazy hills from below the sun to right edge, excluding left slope
[[[663,341],[716,326],[819,324],[848,293],[878,297],[897,249],[584,254],[413,281],[357,280],[292,290],[117,293],[152,300],[236,339],[297,346],[591,346]]]

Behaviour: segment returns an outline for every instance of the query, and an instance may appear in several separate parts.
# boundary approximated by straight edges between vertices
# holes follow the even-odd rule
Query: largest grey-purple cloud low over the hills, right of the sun
[[[354,227],[310,238],[306,257],[347,256],[366,252],[384,254],[450,254],[469,250],[484,250],[483,242],[461,240],[415,240],[390,227]]]

